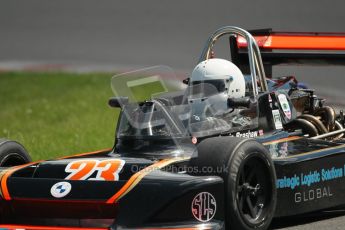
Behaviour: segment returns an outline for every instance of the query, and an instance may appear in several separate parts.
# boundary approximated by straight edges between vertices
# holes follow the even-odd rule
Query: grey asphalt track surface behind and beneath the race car
[[[207,37],[224,25],[279,31],[345,32],[343,0],[0,0],[0,64],[190,72]],[[345,104],[345,68],[290,68],[320,94]],[[345,211],[276,219],[272,229],[345,229]]]

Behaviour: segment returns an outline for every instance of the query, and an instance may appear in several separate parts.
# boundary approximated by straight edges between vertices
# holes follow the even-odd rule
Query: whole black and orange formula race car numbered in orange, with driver
[[[222,36],[229,60],[215,57]],[[114,76],[112,149],[31,162],[1,139],[0,227],[263,230],[344,205],[343,113],[271,77],[279,64],[344,64],[343,51],[342,34],[229,26],[189,78],[166,66]]]

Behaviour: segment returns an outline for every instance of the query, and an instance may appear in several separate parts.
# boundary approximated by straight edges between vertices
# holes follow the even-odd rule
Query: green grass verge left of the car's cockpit
[[[0,73],[0,137],[34,160],[112,147],[111,74]]]

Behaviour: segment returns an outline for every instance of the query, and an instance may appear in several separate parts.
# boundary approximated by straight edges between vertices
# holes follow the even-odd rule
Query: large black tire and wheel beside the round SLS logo
[[[215,137],[198,145],[190,164],[224,179],[226,229],[265,230],[274,216],[276,174],[267,149],[253,139]]]

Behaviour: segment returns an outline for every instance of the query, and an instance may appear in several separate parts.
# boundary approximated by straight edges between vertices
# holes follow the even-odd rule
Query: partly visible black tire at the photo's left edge
[[[31,162],[31,157],[21,144],[0,139],[0,167],[11,167],[29,162]]]

